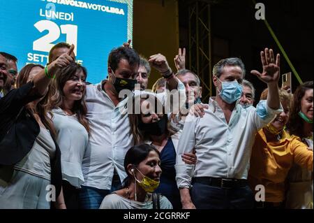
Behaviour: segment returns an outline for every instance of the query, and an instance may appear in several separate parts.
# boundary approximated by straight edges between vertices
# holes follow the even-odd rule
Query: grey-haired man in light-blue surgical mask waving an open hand
[[[183,208],[253,208],[247,184],[251,148],[256,132],[280,113],[279,60],[273,50],[261,52],[263,72],[251,71],[267,83],[269,96],[253,106],[239,105],[245,75],[241,59],[223,59],[214,66],[216,98],[204,117],[188,115],[177,152],[177,185]],[[195,148],[197,163],[185,164],[181,155]]]

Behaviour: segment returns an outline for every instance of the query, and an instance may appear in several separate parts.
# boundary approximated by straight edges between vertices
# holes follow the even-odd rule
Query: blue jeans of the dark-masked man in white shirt
[[[112,180],[111,189],[98,189],[95,187],[82,186],[80,189],[80,208],[98,209],[105,196],[120,189],[120,187],[120,180]]]

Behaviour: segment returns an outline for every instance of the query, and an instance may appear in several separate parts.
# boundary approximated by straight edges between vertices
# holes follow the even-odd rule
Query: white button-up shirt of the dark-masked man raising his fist
[[[91,127],[91,136],[83,158],[84,186],[98,189],[110,189],[114,168],[120,180],[126,178],[124,157],[134,145],[130,133],[127,103],[128,97],[117,106],[103,91],[103,82],[87,86],[87,119]],[[179,81],[180,103],[185,102],[185,87]],[[184,96],[182,96],[184,95]],[[165,103],[167,94],[158,94],[158,99]]]

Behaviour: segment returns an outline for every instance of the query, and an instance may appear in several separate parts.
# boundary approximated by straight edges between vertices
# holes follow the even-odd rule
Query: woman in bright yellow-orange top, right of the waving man
[[[313,151],[308,150],[298,136],[290,136],[284,130],[289,120],[291,97],[285,90],[279,93],[283,112],[256,134],[248,173],[253,191],[260,188],[257,185],[264,186],[264,201],[256,203],[262,208],[283,208],[285,180],[293,164],[313,170]],[[261,100],[266,98],[267,89],[262,92]]]

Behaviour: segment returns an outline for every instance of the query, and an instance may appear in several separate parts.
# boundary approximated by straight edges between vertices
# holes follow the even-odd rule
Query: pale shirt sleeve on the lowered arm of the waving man
[[[178,188],[190,188],[195,165],[190,165],[182,161],[181,155],[192,152],[195,147],[195,123],[196,117],[188,115],[184,124],[184,129],[179,139],[177,148],[177,160],[175,164],[176,180]]]

